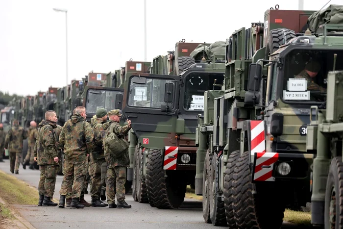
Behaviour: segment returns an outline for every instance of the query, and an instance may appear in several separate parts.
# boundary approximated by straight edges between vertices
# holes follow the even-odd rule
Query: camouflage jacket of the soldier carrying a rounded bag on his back
[[[123,126],[121,127],[119,123],[109,120],[107,123],[103,124],[104,128],[104,133],[103,133],[103,138],[104,136],[107,135],[108,132],[112,131],[115,134],[117,134],[118,137],[125,138],[131,127]],[[114,168],[116,166],[124,166],[128,167],[130,165],[130,158],[128,155],[128,150],[123,154],[122,157],[114,159],[110,153],[107,153],[106,148],[104,148],[104,154],[105,154],[105,159],[107,162],[107,167],[108,168]],[[109,163],[110,162],[110,163]]]

